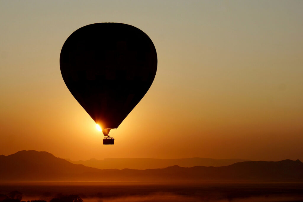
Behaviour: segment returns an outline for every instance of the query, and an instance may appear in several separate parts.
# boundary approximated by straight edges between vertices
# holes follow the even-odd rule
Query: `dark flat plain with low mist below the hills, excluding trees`
[[[0,196],[2,196],[0,201],[12,191],[18,191],[18,199],[22,197],[21,201],[52,200],[60,202],[64,201],[62,196],[71,194],[78,196],[78,200],[74,200],[74,202],[81,200],[84,202],[303,201],[303,183],[2,183],[0,184]],[[68,202],[67,199],[66,202]]]

